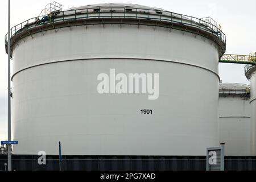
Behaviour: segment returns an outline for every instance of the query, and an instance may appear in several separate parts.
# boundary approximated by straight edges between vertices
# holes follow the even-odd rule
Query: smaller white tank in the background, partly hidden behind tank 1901
[[[225,155],[250,155],[250,86],[221,83],[219,89],[220,142],[225,142]]]

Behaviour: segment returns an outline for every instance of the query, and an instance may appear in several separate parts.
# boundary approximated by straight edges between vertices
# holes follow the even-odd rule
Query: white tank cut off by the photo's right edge
[[[245,75],[251,82],[251,155],[256,155],[256,67],[246,65]]]

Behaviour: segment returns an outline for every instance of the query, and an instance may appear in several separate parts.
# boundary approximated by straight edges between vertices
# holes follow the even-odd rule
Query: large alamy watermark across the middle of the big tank
[[[100,73],[97,77],[100,94],[148,94],[148,100],[159,98],[159,73]]]

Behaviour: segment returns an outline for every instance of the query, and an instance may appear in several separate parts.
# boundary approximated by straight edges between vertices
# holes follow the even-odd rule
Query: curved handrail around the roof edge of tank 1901
[[[129,11],[127,11],[128,9]],[[185,26],[198,28],[199,30],[206,31],[209,34],[215,35],[224,44],[226,44],[225,34],[214,24],[206,22],[199,18],[195,18],[193,16],[172,13],[170,11],[156,9],[140,9],[133,7],[95,7],[88,9],[52,12],[52,14],[53,16],[51,16],[50,20],[44,20],[43,18],[47,18],[46,16],[39,16],[17,24],[16,26],[11,28],[10,38],[13,38],[13,36],[19,34],[20,32],[30,30],[30,28],[39,27],[45,24],[51,24],[56,22],[92,18],[135,18],[159,20],[161,22],[170,22],[175,24],[184,24]],[[7,37],[8,36],[6,34],[5,44],[8,43]]]

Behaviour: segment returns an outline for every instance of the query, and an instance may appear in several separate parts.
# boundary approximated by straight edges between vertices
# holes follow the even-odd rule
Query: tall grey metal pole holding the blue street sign
[[[8,1],[8,140],[11,141],[11,40],[10,40],[10,0]],[[11,171],[11,144],[8,145],[8,171]]]

